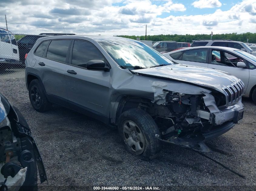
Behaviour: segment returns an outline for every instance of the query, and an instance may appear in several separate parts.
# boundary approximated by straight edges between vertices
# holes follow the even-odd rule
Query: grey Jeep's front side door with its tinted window
[[[91,42],[74,40],[72,46],[65,72],[69,106],[83,113],[109,117],[110,72],[86,68],[89,60],[103,60],[107,64],[106,59]]]

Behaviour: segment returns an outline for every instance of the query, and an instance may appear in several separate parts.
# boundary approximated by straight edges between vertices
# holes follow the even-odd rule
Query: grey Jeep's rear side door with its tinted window
[[[44,42],[41,44],[43,45]],[[67,105],[65,71],[71,42],[71,40],[66,39],[50,41],[43,56],[36,61],[36,67],[48,98],[50,101],[65,106]]]

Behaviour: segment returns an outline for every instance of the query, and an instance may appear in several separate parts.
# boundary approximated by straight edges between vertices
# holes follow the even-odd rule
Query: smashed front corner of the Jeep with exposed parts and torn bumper
[[[168,84],[153,84],[155,99],[146,110],[158,124],[161,135],[156,136],[161,141],[208,152],[210,149],[204,141],[224,134],[239,123],[244,108],[241,97],[227,107],[225,94],[194,87],[194,90],[170,91]]]

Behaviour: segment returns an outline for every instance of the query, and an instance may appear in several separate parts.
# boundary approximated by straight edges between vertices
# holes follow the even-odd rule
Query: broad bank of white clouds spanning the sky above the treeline
[[[0,27],[13,33],[58,32],[76,34],[148,35],[256,32],[256,0],[244,0],[228,11],[186,15],[186,7],[176,1],[150,0],[0,0]],[[118,3],[120,4],[114,4]],[[88,3],[88,5],[86,5]],[[47,4],[47,6],[45,6]],[[100,6],[99,6],[100,5]],[[28,11],[29,10],[29,11]],[[180,11],[181,16],[173,13]],[[162,18],[163,15],[170,15]]]

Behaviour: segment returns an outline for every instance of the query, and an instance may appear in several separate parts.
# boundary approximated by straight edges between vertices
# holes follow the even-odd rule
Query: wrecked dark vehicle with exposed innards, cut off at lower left
[[[0,93],[1,190],[37,190],[47,180],[42,158],[29,126],[19,112]]]

